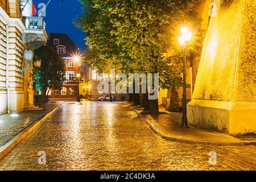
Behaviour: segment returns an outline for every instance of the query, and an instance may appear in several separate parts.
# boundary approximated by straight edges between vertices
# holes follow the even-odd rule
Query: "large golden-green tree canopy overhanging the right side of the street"
[[[105,62],[123,73],[159,73],[163,89],[182,85],[182,59],[164,55],[170,47],[179,55],[180,27],[196,27],[192,8],[197,0],[80,2],[84,11],[75,24],[87,35],[85,60],[94,68],[106,71]]]

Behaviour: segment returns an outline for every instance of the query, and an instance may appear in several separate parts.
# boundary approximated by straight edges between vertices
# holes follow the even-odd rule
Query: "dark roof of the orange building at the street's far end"
[[[63,54],[63,57],[75,57],[80,56],[83,54],[82,50],[79,49],[79,46],[77,46],[67,34],[56,34],[56,33],[49,33],[49,40],[48,45],[54,49],[56,49],[57,46],[65,46],[65,53]],[[59,39],[59,44],[54,44],[54,39]]]

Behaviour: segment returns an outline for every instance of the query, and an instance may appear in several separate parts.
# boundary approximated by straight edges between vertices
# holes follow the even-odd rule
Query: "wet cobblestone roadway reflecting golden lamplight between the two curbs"
[[[39,165],[39,151],[46,165]],[[217,164],[209,164],[210,151]],[[66,102],[0,161],[0,170],[255,170],[256,146],[164,140],[122,103]]]

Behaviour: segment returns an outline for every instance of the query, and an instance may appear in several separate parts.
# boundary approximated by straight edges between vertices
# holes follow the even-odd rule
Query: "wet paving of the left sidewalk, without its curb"
[[[26,129],[39,118],[42,118],[61,103],[61,101],[48,102],[47,104],[40,106],[43,110],[23,111],[14,116],[11,116],[11,114],[0,115],[0,147],[4,146],[21,131]]]

